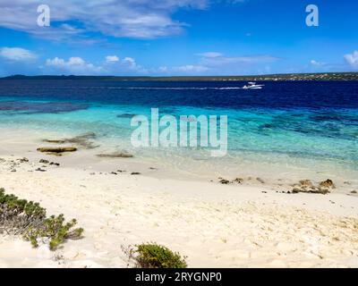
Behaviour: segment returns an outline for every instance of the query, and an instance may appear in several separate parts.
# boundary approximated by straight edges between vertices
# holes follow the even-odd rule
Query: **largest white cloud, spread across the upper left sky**
[[[183,31],[186,24],[172,19],[178,9],[205,9],[210,0],[47,0],[51,27],[38,27],[36,8],[42,2],[0,1],[0,26],[54,40],[84,35],[87,31],[114,37],[158,38]]]

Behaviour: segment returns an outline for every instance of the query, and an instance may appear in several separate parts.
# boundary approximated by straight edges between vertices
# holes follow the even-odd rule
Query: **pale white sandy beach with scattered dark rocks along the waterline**
[[[179,251],[190,267],[358,266],[354,181],[335,181],[337,189],[326,196],[286,194],[289,181],[185,180],[163,175],[156,162],[98,158],[98,151],[81,149],[48,156],[36,151],[41,145],[3,136],[0,187],[40,202],[47,214],[76,218],[84,238],[51,252],[2,235],[0,267],[126,267],[123,248],[150,241]],[[24,156],[30,161],[19,163]],[[39,159],[61,165],[43,167]]]

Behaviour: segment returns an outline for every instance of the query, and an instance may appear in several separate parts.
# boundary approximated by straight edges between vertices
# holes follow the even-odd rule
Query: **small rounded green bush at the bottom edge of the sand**
[[[136,245],[134,260],[141,268],[186,268],[186,257],[156,243]]]

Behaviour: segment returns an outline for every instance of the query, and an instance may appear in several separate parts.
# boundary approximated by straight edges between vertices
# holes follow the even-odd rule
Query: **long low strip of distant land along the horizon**
[[[358,80],[358,72],[286,73],[248,76],[25,76],[13,75],[0,80],[122,80],[122,81],[265,81],[265,80]]]

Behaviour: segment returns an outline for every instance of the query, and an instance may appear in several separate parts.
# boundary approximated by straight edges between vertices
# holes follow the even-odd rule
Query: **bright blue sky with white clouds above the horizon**
[[[308,4],[319,27],[305,23]],[[0,76],[358,71],[357,11],[353,0],[0,0]]]

